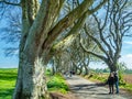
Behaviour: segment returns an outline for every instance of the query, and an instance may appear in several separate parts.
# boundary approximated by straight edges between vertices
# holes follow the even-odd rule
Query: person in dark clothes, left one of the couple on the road
[[[114,85],[114,76],[113,73],[110,73],[108,77],[108,85],[109,85],[109,94],[113,94],[113,85]]]

